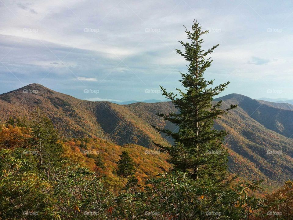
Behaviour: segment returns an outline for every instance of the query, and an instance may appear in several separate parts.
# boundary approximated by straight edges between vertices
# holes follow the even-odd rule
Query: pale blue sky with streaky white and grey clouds
[[[164,100],[193,20],[220,43],[205,72],[221,96],[293,99],[292,1],[0,0],[0,94],[30,83],[90,101]]]

